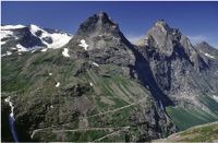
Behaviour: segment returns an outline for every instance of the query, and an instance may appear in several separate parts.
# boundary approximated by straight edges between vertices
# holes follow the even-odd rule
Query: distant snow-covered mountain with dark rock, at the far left
[[[36,25],[1,26],[1,46],[10,47],[8,51],[28,51],[38,48],[60,48],[72,35],[58,29],[41,28]],[[4,48],[2,48],[4,49]]]

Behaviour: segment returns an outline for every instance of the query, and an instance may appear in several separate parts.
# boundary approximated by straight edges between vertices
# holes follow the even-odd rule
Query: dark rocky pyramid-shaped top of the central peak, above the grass
[[[81,44],[88,45],[85,50]],[[89,58],[97,63],[114,63],[119,65],[134,64],[135,58],[129,47],[132,45],[106,13],[97,13],[81,24],[76,35],[65,46],[74,58]]]

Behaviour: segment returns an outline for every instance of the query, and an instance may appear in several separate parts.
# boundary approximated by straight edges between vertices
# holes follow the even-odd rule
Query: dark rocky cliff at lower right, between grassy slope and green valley
[[[165,138],[178,130],[170,118],[155,104],[144,108],[143,111],[135,110],[131,119],[140,131],[136,140],[138,142]]]

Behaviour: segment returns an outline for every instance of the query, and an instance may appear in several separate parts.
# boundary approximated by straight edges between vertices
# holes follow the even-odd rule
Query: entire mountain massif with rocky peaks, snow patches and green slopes
[[[218,120],[218,49],[162,20],[136,45],[105,12],[73,36],[3,25],[1,57],[2,141],[12,111],[19,141],[152,141]]]

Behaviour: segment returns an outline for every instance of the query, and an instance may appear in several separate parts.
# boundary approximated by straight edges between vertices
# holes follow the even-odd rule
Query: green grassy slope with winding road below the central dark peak
[[[131,128],[132,134],[137,132],[131,124],[132,114],[150,105],[149,92],[130,79],[128,71],[114,64],[95,67],[89,60],[74,61],[62,57],[59,49],[45,53],[13,53],[2,59],[2,92],[12,93],[20,118],[28,116],[33,117],[31,121],[43,120],[40,126],[36,122],[34,127],[34,130],[40,129],[35,132],[35,140],[125,141],[125,135],[120,135],[125,130]],[[57,82],[60,82],[58,88]],[[69,84],[89,90],[81,97],[61,95]],[[73,112],[74,109],[80,114]]]

